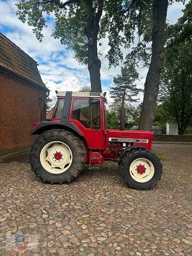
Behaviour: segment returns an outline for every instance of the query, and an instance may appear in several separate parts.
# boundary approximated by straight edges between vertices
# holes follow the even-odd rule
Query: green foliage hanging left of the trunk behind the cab
[[[70,3],[71,2],[71,3]],[[46,16],[52,12],[55,15],[55,28],[52,33],[54,38],[60,38],[61,44],[67,49],[74,50],[75,58],[80,63],[87,64],[87,40],[84,29],[87,21],[96,14],[98,5],[93,5],[92,12],[86,2],[90,1],[44,1],[44,0],[21,0],[16,4],[19,19],[33,26],[33,32],[39,41],[42,41],[42,30],[46,25]]]

